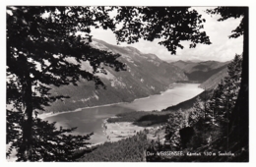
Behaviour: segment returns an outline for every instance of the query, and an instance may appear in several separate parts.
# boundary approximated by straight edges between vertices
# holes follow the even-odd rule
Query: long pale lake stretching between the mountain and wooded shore
[[[75,112],[61,113],[45,118],[49,122],[57,122],[57,126],[63,128],[78,127],[73,135],[87,135],[94,132],[91,142],[106,141],[103,134],[103,120],[119,113],[131,111],[162,110],[171,105],[188,100],[203,91],[198,87],[199,83],[173,83],[172,88],[160,94],[146,98],[136,99],[131,103],[118,103],[92,108],[84,108]]]

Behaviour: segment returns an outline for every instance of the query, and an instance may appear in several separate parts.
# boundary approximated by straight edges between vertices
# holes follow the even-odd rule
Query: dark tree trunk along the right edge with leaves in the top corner
[[[242,18],[240,25],[232,30],[229,37],[236,38],[243,35],[242,72],[238,97],[233,108],[229,136],[233,142],[238,142],[240,147],[246,148],[244,157],[248,160],[249,145],[249,9],[248,7],[218,7],[207,11],[209,14],[220,14],[220,22],[229,18]],[[245,161],[247,161],[245,159]]]

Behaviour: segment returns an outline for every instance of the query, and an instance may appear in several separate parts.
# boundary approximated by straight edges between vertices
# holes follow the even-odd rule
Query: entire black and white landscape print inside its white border
[[[249,10],[7,5],[6,161],[250,162]]]

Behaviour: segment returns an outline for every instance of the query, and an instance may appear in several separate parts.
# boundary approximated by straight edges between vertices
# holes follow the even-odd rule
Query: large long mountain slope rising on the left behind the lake
[[[106,89],[96,89],[93,82],[83,79],[78,86],[70,84],[53,87],[51,93],[69,95],[71,98],[52,103],[45,108],[46,111],[62,112],[88,106],[130,102],[160,93],[176,81],[188,80],[182,70],[160,60],[155,54],[144,54],[134,47],[115,46],[98,39],[93,39],[91,45],[121,54],[118,60],[126,64],[127,70],[115,72],[105,67],[107,75],[97,74]],[[82,68],[92,70],[89,62],[83,62]]]

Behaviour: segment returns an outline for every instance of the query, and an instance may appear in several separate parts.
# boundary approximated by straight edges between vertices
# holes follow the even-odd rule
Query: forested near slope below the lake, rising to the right
[[[204,96],[206,93],[198,95],[190,108],[174,110],[176,107],[173,106],[171,111],[132,112],[119,114],[117,118],[108,119],[110,123],[134,122],[138,126],[162,124],[164,125],[164,136],[162,136],[164,142],[160,142],[162,140],[159,134],[160,130],[154,129],[151,132],[145,130],[132,138],[98,145],[94,151],[85,154],[79,161],[128,160],[133,162],[141,161],[144,158],[147,161],[159,162],[239,161],[239,158],[244,157],[247,148],[235,151],[236,145],[228,145],[228,122],[240,88],[241,61],[241,56],[236,55],[227,66],[226,77],[211,91],[211,95]],[[178,104],[178,106],[180,105]],[[151,139],[149,138],[150,134],[155,134],[159,138]],[[223,139],[226,143],[225,147],[220,143],[220,140],[224,141]],[[131,156],[133,153],[131,151],[126,152],[127,149],[135,152],[136,156]],[[145,154],[145,150],[152,154]],[[183,156],[159,155],[158,152],[160,151],[181,151]],[[233,156],[222,156],[219,154],[220,151],[230,151]],[[123,155],[124,152],[127,153],[127,156]],[[188,152],[197,152],[201,156],[191,156],[187,154]],[[205,154],[206,152],[215,153],[216,156],[208,156]]]

